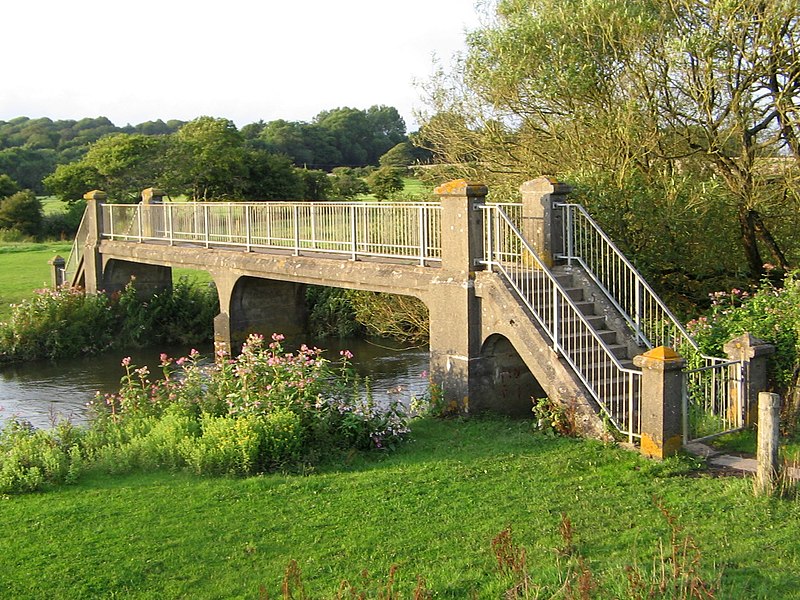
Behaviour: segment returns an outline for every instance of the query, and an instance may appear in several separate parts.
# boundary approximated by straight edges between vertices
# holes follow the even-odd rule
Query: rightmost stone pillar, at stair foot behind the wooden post
[[[743,398],[739,398],[739,384],[731,381],[731,410],[744,412],[745,424],[758,421],[758,394],[768,385],[767,367],[769,357],[775,353],[775,346],[744,333],[727,342],[723,351],[729,360],[744,361]]]

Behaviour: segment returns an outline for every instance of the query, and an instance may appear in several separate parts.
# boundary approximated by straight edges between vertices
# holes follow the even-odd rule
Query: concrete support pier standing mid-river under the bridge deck
[[[305,285],[230,272],[212,275],[219,294],[220,313],[214,318],[218,350],[237,353],[251,333],[282,333],[290,341],[305,333]]]

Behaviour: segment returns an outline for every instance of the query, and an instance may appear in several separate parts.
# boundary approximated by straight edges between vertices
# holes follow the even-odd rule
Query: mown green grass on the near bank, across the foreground
[[[659,543],[669,552],[655,496],[698,544],[705,576],[721,577],[716,597],[796,597],[796,500],[754,498],[746,479],[681,475],[685,461],[533,435],[527,422],[422,421],[415,431],[394,454],[307,475],[95,475],[5,497],[0,596],[258,598],[263,585],[279,598],[296,559],[309,598],[334,597],[363,569],[385,579],[393,564],[403,597],[420,575],[436,598],[502,598],[509,579],[496,575],[491,540],[510,525],[550,598],[566,513],[601,582],[594,597],[625,597],[625,565],[648,571]]]

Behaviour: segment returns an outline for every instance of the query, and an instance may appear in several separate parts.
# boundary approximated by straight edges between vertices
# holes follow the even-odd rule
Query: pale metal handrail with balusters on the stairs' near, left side
[[[589,323],[585,315],[576,306],[575,302],[572,300],[572,298],[570,298],[569,294],[561,285],[561,283],[559,283],[553,272],[534,251],[530,243],[525,239],[511,218],[505,213],[502,206],[498,204],[486,204],[481,208],[485,211],[487,218],[484,220],[484,259],[480,262],[486,265],[489,270],[496,271],[501,274],[505,281],[514,289],[524,303],[525,307],[530,311],[535,320],[547,334],[553,345],[553,350],[566,360],[567,364],[569,364],[575,375],[578,377],[578,379],[580,379],[591,396],[597,401],[598,405],[609,417],[611,422],[617,427],[617,429],[628,434],[631,440],[633,437],[637,437],[639,435],[640,427],[638,419],[636,419],[637,422],[634,422],[634,419],[636,418],[635,415],[637,415],[639,411],[634,410],[634,403],[636,400],[636,390],[641,386],[641,371],[625,367],[614,355],[612,350],[608,347],[608,344],[606,344],[597,334],[595,328]],[[542,314],[543,311],[540,310],[542,307],[537,307],[536,302],[533,299],[534,294],[529,294],[530,290],[526,291],[522,289],[523,286],[521,285],[520,281],[518,281],[514,277],[514,274],[509,270],[509,263],[502,260],[502,255],[509,253],[505,252],[499,247],[499,244],[502,243],[503,238],[506,237],[501,235],[501,224],[505,224],[508,232],[513,237],[512,243],[519,246],[520,261],[524,262],[525,257],[529,256],[530,259],[528,260],[533,260],[535,269],[543,274],[545,280],[547,281],[547,286],[552,288],[551,293],[553,296],[550,316]],[[527,272],[530,271],[530,268],[528,268]],[[621,407],[619,405],[614,406],[613,398],[611,398],[612,394],[609,393],[609,397],[604,397],[605,394],[602,393],[601,386],[598,385],[598,381],[593,380],[590,377],[590,374],[587,372],[587,369],[582,368],[582,365],[585,365],[587,361],[585,359],[581,359],[581,357],[574,351],[574,348],[565,345],[564,341],[569,339],[567,336],[564,336],[562,341],[564,327],[569,321],[566,321],[563,318],[559,319],[559,307],[562,309],[566,308],[566,312],[569,314],[569,316],[581,324],[581,328],[584,330],[584,332],[589,334],[588,338],[592,340],[594,344],[593,348],[586,348],[580,344],[580,349],[584,351],[588,350],[589,356],[591,356],[593,353],[595,355],[602,353],[606,364],[610,363],[611,365],[610,369],[605,368],[605,370],[612,372],[616,371],[616,373],[613,374],[620,375],[623,382],[627,380],[627,384],[622,384],[622,391],[624,392],[624,396],[627,397],[625,398],[627,401],[627,406],[624,408],[627,409],[628,422],[625,425],[618,422],[620,411],[615,410],[615,408],[620,409]],[[576,336],[575,339],[577,340],[580,338]],[[608,377],[609,373],[605,373],[604,375],[605,377]],[[634,379],[638,380],[634,382]],[[609,403],[611,403],[611,406],[609,406]]]

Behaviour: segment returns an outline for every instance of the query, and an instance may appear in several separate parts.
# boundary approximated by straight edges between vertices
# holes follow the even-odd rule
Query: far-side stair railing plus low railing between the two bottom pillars
[[[644,277],[611,238],[579,204],[556,204],[563,210],[564,252],[568,264],[578,263],[625,319],[637,344],[669,346],[696,368],[684,370],[684,440],[706,438],[741,427],[729,418],[730,407],[744,409],[741,363],[707,356],[667,308]],[[736,367],[736,365],[739,365]],[[720,382],[726,382],[724,385]],[[738,387],[737,387],[738,386]],[[737,398],[744,398],[744,402]],[[716,428],[715,428],[716,426]]]

